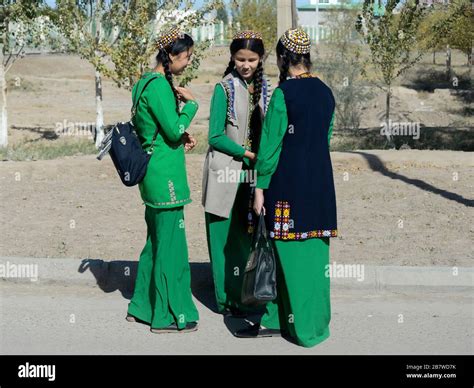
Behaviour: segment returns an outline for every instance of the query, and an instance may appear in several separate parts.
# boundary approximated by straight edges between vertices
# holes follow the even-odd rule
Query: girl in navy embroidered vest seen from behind
[[[337,236],[329,154],[335,101],[310,73],[310,39],[299,29],[280,38],[280,84],[262,129],[254,209],[264,212],[276,254],[277,299],[261,321],[235,333],[286,335],[315,346],[329,337],[329,239]]]

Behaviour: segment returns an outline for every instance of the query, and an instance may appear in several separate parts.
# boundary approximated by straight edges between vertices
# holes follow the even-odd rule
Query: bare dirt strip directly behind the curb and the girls
[[[333,261],[472,265],[472,154],[355,151],[332,158],[340,231],[331,243]],[[208,260],[203,159],[187,157],[192,261]],[[122,185],[108,157],[3,162],[0,182],[0,256],[138,259],[144,207],[138,189]]]

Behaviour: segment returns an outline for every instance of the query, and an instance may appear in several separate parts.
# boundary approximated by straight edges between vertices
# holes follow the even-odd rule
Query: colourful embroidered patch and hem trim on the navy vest
[[[311,230],[309,232],[290,232],[290,204],[288,201],[277,201],[273,231],[270,237],[275,240],[306,240],[308,238],[337,237],[337,230]]]

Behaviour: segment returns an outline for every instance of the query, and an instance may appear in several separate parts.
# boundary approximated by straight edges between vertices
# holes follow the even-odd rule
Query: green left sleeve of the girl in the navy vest
[[[257,154],[257,188],[268,189],[280,159],[283,137],[288,127],[285,97],[280,88],[273,92],[268,112],[263,122],[262,137]]]

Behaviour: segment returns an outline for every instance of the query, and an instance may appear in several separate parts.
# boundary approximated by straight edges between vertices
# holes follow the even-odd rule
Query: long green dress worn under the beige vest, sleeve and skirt
[[[252,95],[249,94],[249,104],[251,102]],[[250,150],[251,144],[247,139],[242,146],[226,136],[226,112],[227,97],[222,86],[217,84],[211,100],[209,145],[220,152],[243,159],[242,174],[245,174],[245,171],[251,169],[251,163],[244,157],[244,153]],[[253,224],[249,221],[249,211],[253,206],[252,190],[248,181],[239,183],[229,218],[205,213],[207,244],[219,313],[230,309],[252,310],[241,303],[242,279],[253,231]]]

